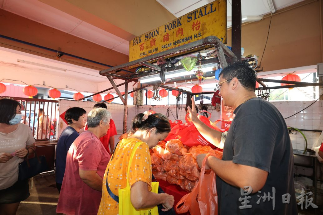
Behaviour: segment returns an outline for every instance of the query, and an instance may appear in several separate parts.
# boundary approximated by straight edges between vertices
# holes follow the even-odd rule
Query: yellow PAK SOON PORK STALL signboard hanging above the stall
[[[226,43],[226,0],[216,0],[129,42],[129,61],[188,44],[207,36]]]

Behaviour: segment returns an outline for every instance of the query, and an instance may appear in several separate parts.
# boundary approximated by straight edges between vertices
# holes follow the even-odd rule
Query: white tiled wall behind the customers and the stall
[[[304,109],[309,106],[313,101],[305,102],[272,102],[276,108],[282,113],[283,117],[286,118],[295,114],[296,112]],[[81,107],[89,112],[92,108],[94,102],[85,102],[85,101],[73,101],[73,100],[60,100],[59,101],[59,115],[66,111],[70,107]],[[309,108],[304,111],[286,119],[287,126],[291,126],[298,129],[308,129],[308,130],[323,130],[323,101],[315,102]],[[108,110],[111,112],[112,119],[114,120],[117,128],[118,134],[122,134],[123,126],[123,109],[122,104],[107,104]],[[182,107],[182,105],[181,105]],[[169,111],[167,112],[169,108]],[[184,122],[185,120],[185,104],[178,112],[178,119]],[[153,110],[155,112],[163,113],[169,116],[169,119],[174,121],[176,120],[176,105],[143,105],[136,107],[135,105],[128,105],[128,119],[127,119],[127,130],[131,127],[132,118],[144,111]],[[209,105],[208,111],[211,112],[211,121],[220,119],[220,112],[214,110],[214,106]],[[62,119],[58,121],[58,137],[60,133],[66,128],[66,123]],[[320,135],[319,132],[308,132],[304,131],[304,135],[307,138],[307,148],[312,148],[313,143],[317,142]],[[304,150],[305,140],[303,136],[298,132],[297,134],[290,134],[291,142],[293,149]],[[115,138],[116,142],[118,138]]]

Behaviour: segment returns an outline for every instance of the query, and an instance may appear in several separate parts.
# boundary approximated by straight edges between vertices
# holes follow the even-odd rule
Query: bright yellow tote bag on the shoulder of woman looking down
[[[129,180],[128,180],[130,164],[136,152],[136,149],[141,143],[142,142],[136,143],[130,155],[130,161],[129,161],[128,172],[127,172],[127,186],[123,189],[119,189],[119,215],[158,215],[157,205],[153,208],[136,210],[132,206],[130,201],[130,186],[129,186]],[[158,193],[158,186],[159,186],[159,182],[151,182],[151,192]]]

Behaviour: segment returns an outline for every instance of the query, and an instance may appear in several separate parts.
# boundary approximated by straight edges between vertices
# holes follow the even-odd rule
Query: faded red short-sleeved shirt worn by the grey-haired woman
[[[57,203],[57,213],[96,215],[102,192],[82,181],[79,169],[97,171],[103,179],[110,155],[93,133],[82,132],[72,143],[66,157],[66,169]]]

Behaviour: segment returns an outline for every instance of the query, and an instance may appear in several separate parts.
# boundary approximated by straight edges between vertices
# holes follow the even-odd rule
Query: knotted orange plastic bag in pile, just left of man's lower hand
[[[198,178],[200,175],[199,166],[196,162],[196,159],[194,159],[193,155],[190,153],[185,153],[182,156],[182,158],[179,161],[179,167],[181,168],[182,171],[189,173],[194,178]],[[190,179],[190,176],[188,175],[185,177]]]

